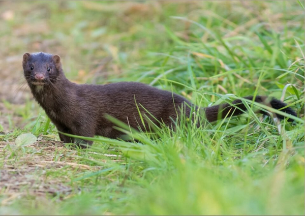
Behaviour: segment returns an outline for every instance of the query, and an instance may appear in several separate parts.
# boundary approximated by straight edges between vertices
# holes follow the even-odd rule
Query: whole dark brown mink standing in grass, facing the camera
[[[154,117],[151,117],[150,120],[157,126],[160,126],[159,122],[174,126],[173,121],[181,116],[181,110],[184,110],[183,114],[189,117],[192,112],[191,107],[194,110],[198,109],[190,101],[173,92],[138,82],[118,82],[105,85],[70,82],[63,72],[58,55],[43,52],[25,53],[22,66],[24,77],[35,100],[45,110],[57,130],[68,134],[119,138],[123,133],[113,128],[114,124],[105,117],[105,114],[125,122],[132,128],[145,130],[148,128],[148,122],[144,119],[143,126],[138,109],[142,115],[153,115]],[[246,99],[253,100],[253,97],[246,97]],[[265,96],[255,97],[256,102],[265,103],[275,109],[287,106],[277,99],[266,99]],[[239,115],[247,110],[240,100],[235,100],[232,104],[235,107],[221,104],[200,109],[203,110],[201,112],[203,117],[209,122],[227,115]],[[296,116],[290,107],[282,109],[282,111]],[[261,113],[267,114],[262,111]],[[277,117],[284,118],[278,114]],[[60,133],[59,137],[64,143],[75,141],[74,138]],[[76,141],[78,144],[92,144],[90,141]]]

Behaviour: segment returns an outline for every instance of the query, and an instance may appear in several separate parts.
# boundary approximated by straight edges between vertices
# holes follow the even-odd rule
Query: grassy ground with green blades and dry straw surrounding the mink
[[[252,108],[272,110],[249,104],[199,129],[117,122],[140,142],[95,137],[78,149],[58,142],[27,90],[17,104],[0,91],[0,214],[304,214],[302,4],[1,2],[0,71],[14,83],[22,54],[45,51],[79,83],[138,81],[201,107],[267,95],[298,117],[279,130]],[[15,143],[27,133],[39,140]]]

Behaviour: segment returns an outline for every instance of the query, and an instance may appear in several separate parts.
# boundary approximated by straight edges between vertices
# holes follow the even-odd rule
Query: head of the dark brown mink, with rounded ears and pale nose
[[[24,77],[30,86],[54,83],[63,73],[59,55],[43,52],[24,53],[22,67]]]

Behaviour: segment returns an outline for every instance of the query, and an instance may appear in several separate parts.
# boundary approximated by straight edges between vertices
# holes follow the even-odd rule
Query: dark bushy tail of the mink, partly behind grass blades
[[[245,97],[245,99],[253,100],[253,96]],[[283,103],[280,100],[277,100],[275,98],[268,99],[266,96],[256,96],[255,102],[262,103],[267,106],[271,106],[274,109],[281,109],[287,104]],[[243,111],[247,111],[246,106],[242,103],[241,100],[235,100],[232,102],[234,104],[234,107],[230,104],[220,104],[216,106],[206,107],[205,108],[205,116],[209,122],[216,121],[219,118],[225,118],[226,116],[234,116],[234,115],[240,115],[243,113]],[[291,109],[290,107],[287,107],[285,109],[281,109],[281,111],[286,112],[290,115],[297,116],[296,112]],[[259,111],[259,113],[262,113],[264,115],[269,115],[267,112],[264,112],[262,110]],[[276,114],[279,119],[284,119],[283,115]],[[293,119],[288,118],[288,121],[293,121]]]

